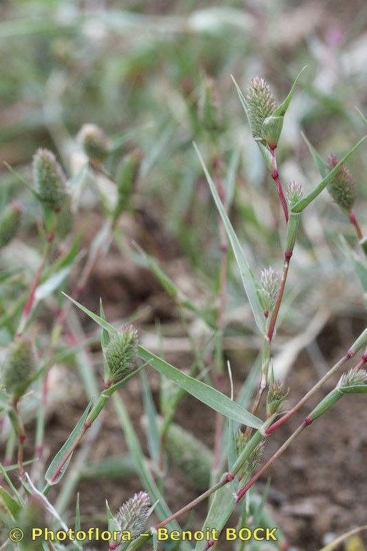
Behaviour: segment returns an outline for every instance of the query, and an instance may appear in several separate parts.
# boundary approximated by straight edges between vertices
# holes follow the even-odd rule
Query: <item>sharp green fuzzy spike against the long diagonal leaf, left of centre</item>
[[[130,325],[117,333],[109,341],[104,353],[109,368],[109,382],[118,382],[134,369],[138,360],[138,332],[136,329]]]

